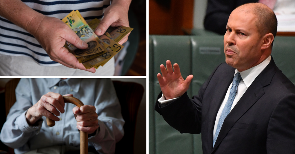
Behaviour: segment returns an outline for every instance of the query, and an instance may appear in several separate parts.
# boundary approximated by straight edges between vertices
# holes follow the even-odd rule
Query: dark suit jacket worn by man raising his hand
[[[199,95],[185,93],[165,107],[157,101],[155,110],[180,133],[202,133],[204,154],[294,154],[295,87],[273,58],[225,118],[213,148],[216,115],[234,72],[222,63]]]

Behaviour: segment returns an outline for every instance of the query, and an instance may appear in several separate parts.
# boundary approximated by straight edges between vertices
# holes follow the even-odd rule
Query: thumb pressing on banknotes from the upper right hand
[[[95,29],[95,34],[98,36],[103,35],[106,30],[114,23],[118,18],[116,16],[111,16],[109,13],[105,13],[104,17],[102,18],[102,21],[98,24],[98,26]]]

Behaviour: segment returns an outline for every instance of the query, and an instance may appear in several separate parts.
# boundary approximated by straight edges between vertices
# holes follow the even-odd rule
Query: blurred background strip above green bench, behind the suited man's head
[[[295,35],[294,0],[149,0],[149,34],[224,35],[229,14],[251,2],[263,3],[275,12],[278,36]]]

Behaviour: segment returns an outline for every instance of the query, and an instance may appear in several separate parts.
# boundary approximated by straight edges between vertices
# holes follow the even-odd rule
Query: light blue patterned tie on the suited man
[[[241,79],[242,79],[242,77],[241,77],[240,73],[236,73],[236,75],[233,77],[233,85],[229,90],[229,99],[227,100],[227,102],[221,112],[221,115],[220,115],[220,118],[219,118],[219,121],[217,124],[215,136],[213,138],[213,147],[214,147],[215,142],[217,140],[217,137],[220,132],[221,126],[223,124],[223,121],[226,118],[226,116],[229,114],[230,109],[232,108],[233,100],[235,99],[236,93],[237,93],[237,87],[238,87]]]

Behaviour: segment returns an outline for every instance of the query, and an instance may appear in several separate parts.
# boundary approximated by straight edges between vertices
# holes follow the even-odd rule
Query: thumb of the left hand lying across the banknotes
[[[66,39],[70,44],[73,44],[75,47],[79,49],[86,49],[88,48],[88,44],[82,41],[78,35],[73,32],[72,30],[69,30],[65,33],[64,39]]]

